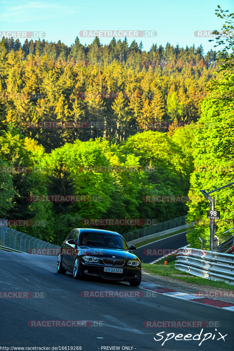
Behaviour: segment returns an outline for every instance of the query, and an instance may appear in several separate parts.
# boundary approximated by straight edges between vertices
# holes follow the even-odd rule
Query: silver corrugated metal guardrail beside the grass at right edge
[[[175,266],[196,277],[234,285],[234,255],[193,248],[178,249]]]

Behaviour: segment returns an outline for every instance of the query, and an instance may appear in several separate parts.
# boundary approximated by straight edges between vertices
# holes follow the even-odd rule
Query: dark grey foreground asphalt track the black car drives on
[[[154,297],[82,297],[82,291],[146,292],[126,283],[101,283],[75,280],[72,274],[56,272],[56,257],[0,252],[1,292],[37,292],[45,297],[0,298],[0,346],[81,346],[83,351],[116,350],[233,350],[234,313],[217,307],[180,300],[158,293]],[[165,282],[166,284],[166,282]],[[165,285],[166,286],[166,285]],[[42,294],[43,295],[43,294]],[[41,295],[41,296],[42,296]],[[35,320],[89,320],[89,325],[102,321],[102,326],[32,327]],[[168,340],[167,333],[199,334],[201,327],[147,328],[145,321],[217,321],[221,326],[204,327],[215,338],[201,340]],[[96,321],[94,323],[93,321]],[[60,323],[60,322],[59,322]],[[163,340],[156,333],[165,331]],[[218,334],[226,335],[225,341]],[[178,337],[179,338],[179,337]],[[180,336],[181,338],[181,336]],[[125,348],[122,348],[125,347]],[[126,348],[128,347],[128,348]],[[1,349],[2,350],[2,349]],[[12,349],[14,350],[14,349]],[[62,350],[62,349],[61,349]],[[70,349],[71,350],[71,349]]]

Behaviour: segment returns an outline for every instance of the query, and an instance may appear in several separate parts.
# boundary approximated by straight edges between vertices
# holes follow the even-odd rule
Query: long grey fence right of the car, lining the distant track
[[[171,220],[167,220],[167,221],[162,222],[162,223],[150,225],[149,227],[146,227],[143,229],[138,229],[138,230],[134,230],[132,232],[127,232],[125,234],[122,234],[122,236],[128,242],[128,241],[132,241],[132,240],[135,240],[138,238],[146,237],[146,236],[151,235],[151,234],[155,234],[155,233],[163,232],[163,231],[168,230],[168,229],[179,227],[179,226],[185,225],[185,224],[186,224],[186,217],[182,216],[182,217],[174,218]]]

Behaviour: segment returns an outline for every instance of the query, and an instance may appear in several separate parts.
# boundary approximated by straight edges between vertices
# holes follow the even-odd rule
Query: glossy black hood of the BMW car
[[[88,256],[96,256],[100,258],[112,258],[115,256],[116,259],[127,259],[135,260],[137,256],[129,251],[116,250],[116,249],[106,249],[105,247],[88,247],[79,246],[80,254],[86,254]]]

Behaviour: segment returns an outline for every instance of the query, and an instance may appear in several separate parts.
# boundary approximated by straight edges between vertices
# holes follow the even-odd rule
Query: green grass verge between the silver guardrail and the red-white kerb
[[[143,268],[142,272],[146,272],[150,274],[159,274],[162,277],[170,277],[173,279],[182,280],[187,283],[198,284],[198,285],[208,285],[216,288],[234,291],[234,285],[221,282],[221,281],[216,282],[215,280],[191,276],[187,272],[179,271],[175,267],[175,261],[169,262],[167,266],[143,263],[142,268]],[[181,276],[173,276],[173,274],[181,274]]]

